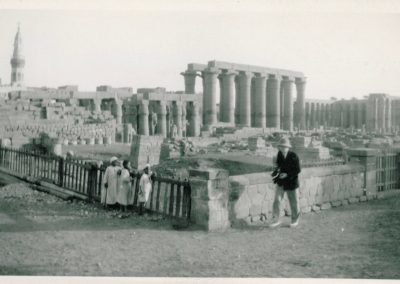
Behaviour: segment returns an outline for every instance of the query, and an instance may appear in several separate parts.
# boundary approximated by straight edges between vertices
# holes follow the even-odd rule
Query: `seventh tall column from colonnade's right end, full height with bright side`
[[[217,120],[217,76],[218,69],[209,67],[204,70],[203,116],[204,125],[213,125]]]

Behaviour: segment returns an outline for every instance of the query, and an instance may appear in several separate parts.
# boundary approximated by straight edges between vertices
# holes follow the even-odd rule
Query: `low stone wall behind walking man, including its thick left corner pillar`
[[[368,151],[354,154],[364,161],[304,168],[300,174],[299,206],[303,213],[374,199],[376,170]],[[360,157],[361,157],[360,156]],[[372,161],[372,160],[371,160]],[[367,166],[365,163],[367,162]],[[270,172],[230,176],[226,170],[190,170],[191,220],[206,230],[264,225],[272,219],[276,185]],[[290,215],[285,196],[281,215]]]

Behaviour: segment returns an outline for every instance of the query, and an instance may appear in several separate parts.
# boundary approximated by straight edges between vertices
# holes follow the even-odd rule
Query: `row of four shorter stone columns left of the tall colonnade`
[[[199,136],[200,135],[200,115],[199,106],[196,102],[189,102],[189,121],[188,128],[185,136]],[[186,129],[186,103],[173,102],[172,103],[172,121],[176,126],[177,136],[182,137],[183,131]],[[149,131],[149,101],[142,100],[139,103],[139,129],[138,134],[150,135]],[[171,126],[170,126],[171,127]],[[171,129],[170,129],[171,131]],[[159,101],[157,109],[157,127],[156,135],[163,137],[168,136],[168,122],[167,122],[167,103],[165,101]]]

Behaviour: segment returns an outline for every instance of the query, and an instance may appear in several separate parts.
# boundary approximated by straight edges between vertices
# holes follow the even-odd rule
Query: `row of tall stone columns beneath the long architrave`
[[[196,72],[182,73],[185,93],[194,94]],[[293,112],[299,120],[297,127],[305,127],[304,78],[281,77],[273,74],[237,72],[208,67],[201,72],[203,78],[203,123],[218,122],[217,83],[220,83],[220,120],[254,127],[293,129]],[[297,109],[293,110],[293,83],[296,83]],[[282,87],[282,90],[281,90]],[[236,94],[235,94],[236,93]],[[281,97],[284,101],[281,111]],[[235,103],[236,102],[236,103]],[[281,125],[281,116],[283,123]],[[252,121],[253,117],[253,121]]]

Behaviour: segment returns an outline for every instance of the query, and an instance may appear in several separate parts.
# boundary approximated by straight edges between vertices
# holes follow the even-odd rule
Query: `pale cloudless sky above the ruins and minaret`
[[[103,6],[92,1],[38,6],[1,0],[2,83],[10,81],[20,23],[28,86],[179,91],[184,89],[180,72],[188,63],[219,60],[301,71],[307,77],[306,98],[400,96],[395,1],[369,1],[371,7],[360,1],[100,2]],[[198,78],[196,90],[201,88]]]

